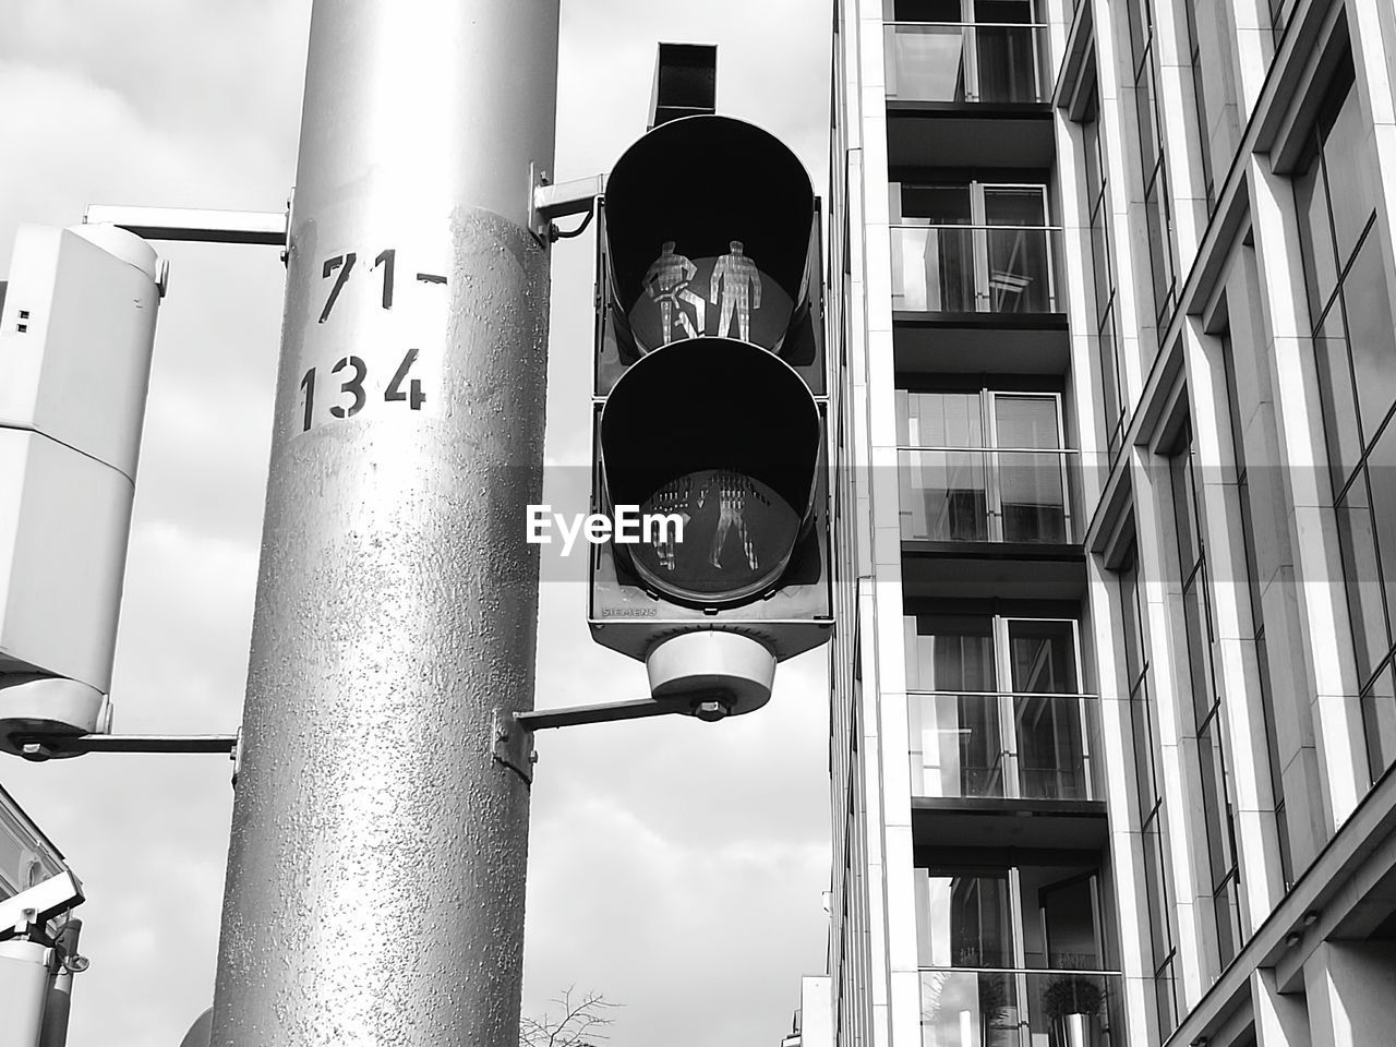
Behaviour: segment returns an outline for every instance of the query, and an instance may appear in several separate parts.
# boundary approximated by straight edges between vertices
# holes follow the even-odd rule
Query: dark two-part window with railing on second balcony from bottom
[[[1089,800],[1076,623],[906,618],[912,790]]]

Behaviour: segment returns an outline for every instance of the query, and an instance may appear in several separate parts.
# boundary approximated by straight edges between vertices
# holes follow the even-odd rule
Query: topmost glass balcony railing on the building
[[[899,102],[1046,102],[1047,27],[889,22],[886,96]]]

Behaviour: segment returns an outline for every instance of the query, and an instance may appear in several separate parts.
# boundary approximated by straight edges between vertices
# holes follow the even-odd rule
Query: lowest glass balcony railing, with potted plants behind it
[[[921,1047],[1124,1047],[1120,974],[921,967]]]

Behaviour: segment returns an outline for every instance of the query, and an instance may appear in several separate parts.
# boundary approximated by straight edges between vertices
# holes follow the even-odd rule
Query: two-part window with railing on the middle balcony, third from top
[[[898,391],[896,406],[903,539],[1072,540],[1058,394]]]

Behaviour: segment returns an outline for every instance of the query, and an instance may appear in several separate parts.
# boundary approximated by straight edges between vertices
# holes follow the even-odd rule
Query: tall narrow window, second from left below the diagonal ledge
[[[1187,666],[1180,677],[1191,681],[1192,713],[1198,741],[1198,786],[1206,833],[1209,889],[1212,893],[1217,966],[1213,979],[1235,958],[1242,944],[1240,874],[1235,826],[1227,780],[1222,698],[1216,687],[1212,603],[1202,539],[1202,505],[1198,498],[1198,463],[1192,431],[1185,427],[1181,445],[1168,463],[1173,512],[1182,578],[1182,617],[1187,631]]]

